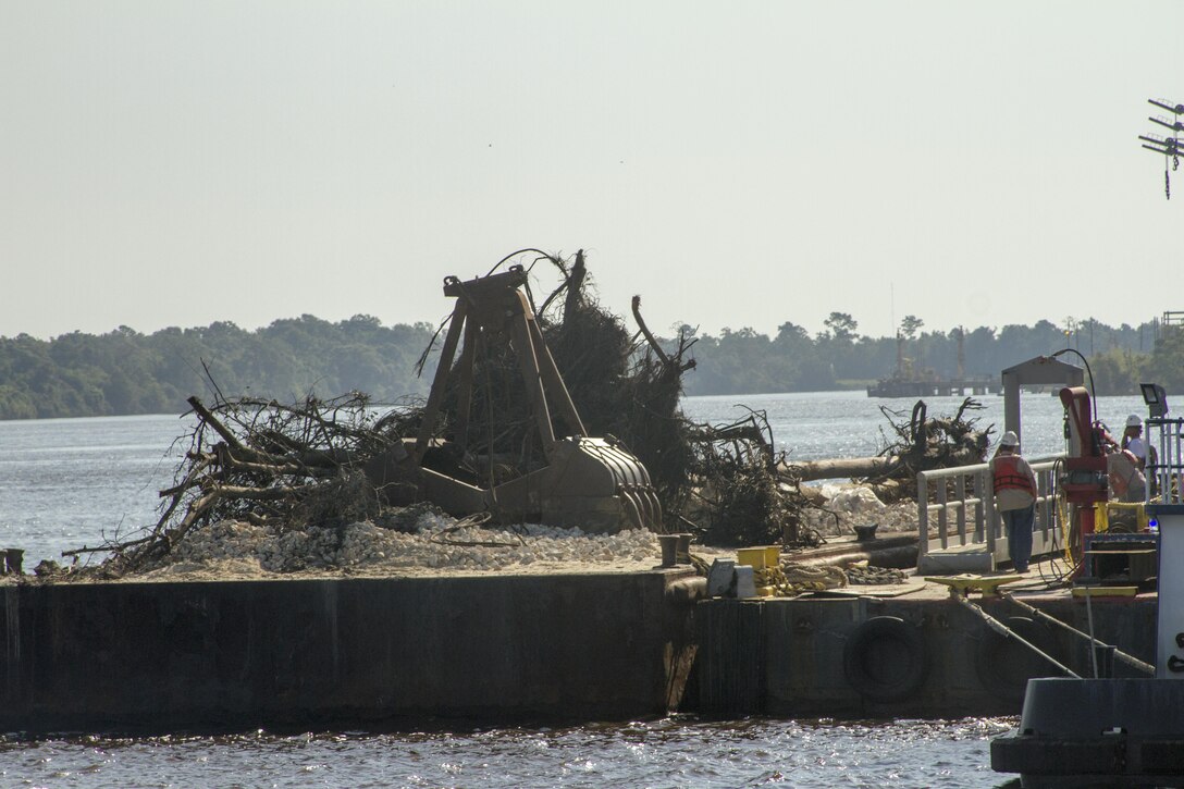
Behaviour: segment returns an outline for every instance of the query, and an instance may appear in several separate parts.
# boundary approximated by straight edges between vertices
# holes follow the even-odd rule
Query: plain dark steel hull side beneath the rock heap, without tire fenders
[[[663,714],[689,662],[690,605],[668,599],[675,579],[12,585],[0,607],[0,731]]]

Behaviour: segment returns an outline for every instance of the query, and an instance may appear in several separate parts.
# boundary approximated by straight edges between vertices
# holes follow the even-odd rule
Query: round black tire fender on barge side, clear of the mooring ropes
[[[843,673],[870,701],[903,701],[929,673],[920,628],[899,616],[874,616],[855,629],[843,647]]]

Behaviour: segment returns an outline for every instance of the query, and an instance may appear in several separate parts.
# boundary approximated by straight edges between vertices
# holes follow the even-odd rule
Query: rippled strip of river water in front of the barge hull
[[[1004,787],[1005,721],[665,718],[464,733],[0,739],[33,787]]]

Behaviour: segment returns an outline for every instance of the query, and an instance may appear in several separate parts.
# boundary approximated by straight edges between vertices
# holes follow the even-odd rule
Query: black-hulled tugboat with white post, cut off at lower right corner
[[[1151,412],[1147,437],[1157,434],[1152,445],[1160,458],[1147,467],[1159,494],[1146,503],[1151,532],[1158,532],[1156,674],[1029,680],[1018,730],[991,742],[991,769],[1021,774],[1025,788],[1184,787],[1184,500],[1172,490],[1184,470],[1184,419],[1167,418],[1163,387],[1141,389]],[[1070,409],[1063,392],[1062,400]],[[1085,437],[1075,425],[1080,417],[1070,413],[1069,423]],[[1088,443],[1079,447],[1088,450]],[[1096,481],[1101,474],[1105,483],[1105,472],[1090,468],[1094,461],[1088,451],[1067,460],[1070,501],[1074,488],[1090,485],[1090,475]]]

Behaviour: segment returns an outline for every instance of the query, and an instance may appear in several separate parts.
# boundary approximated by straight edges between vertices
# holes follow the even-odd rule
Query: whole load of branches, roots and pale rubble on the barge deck
[[[520,250],[498,265],[535,252]],[[646,467],[665,531],[689,531],[696,543],[714,546],[806,547],[819,544],[824,533],[837,533],[843,521],[867,520],[873,502],[883,507],[867,488],[828,502],[803,486],[825,474],[811,476],[809,463],[791,464],[774,453],[764,413],[751,412],[731,425],[691,423],[678,403],[682,376],[694,367],[687,359],[694,340],[658,341],[637,297],[632,315],[638,331],[631,334],[590,295],[583,251],[574,261],[538,252],[530,267],[539,262],[561,275],[559,287],[533,309],[546,347],[588,434],[613,437]],[[526,297],[533,307],[528,287]],[[157,522],[141,534],[67,554],[108,552],[92,569],[107,577],[178,562],[249,559],[266,571],[291,572],[374,563],[436,566],[433,560],[497,569],[560,560],[560,554],[567,560],[655,557],[654,537],[645,532],[588,541],[578,530],[514,524],[494,530],[481,520],[451,521],[408,508],[422,490],[413,475],[391,470],[405,463],[407,442],[424,436],[432,447],[446,444],[458,430],[482,437],[470,456],[449,458],[475,482],[513,480],[539,468],[536,423],[527,410],[530,398],[519,359],[493,344],[475,345],[481,351],[468,359],[466,372],[462,374],[459,363],[449,368],[443,405],[431,418],[425,418],[423,402],[382,411],[366,394],[352,392],[288,405],[227,398],[211,381],[212,404],[189,399],[197,423],[174,485],[161,492]],[[430,346],[422,363],[431,352]],[[458,396],[462,390],[471,394]],[[953,418],[927,419],[919,402],[908,423],[894,424],[897,440],[873,458],[879,461],[874,473],[855,476],[867,476],[881,498],[900,498],[919,468],[982,461],[990,429],[979,431],[973,419],[963,419],[974,408],[967,399]],[[464,418],[458,417],[462,409]],[[465,545],[445,545],[438,532]],[[559,549],[559,541],[570,545]]]

